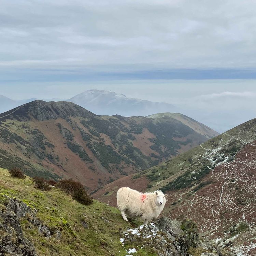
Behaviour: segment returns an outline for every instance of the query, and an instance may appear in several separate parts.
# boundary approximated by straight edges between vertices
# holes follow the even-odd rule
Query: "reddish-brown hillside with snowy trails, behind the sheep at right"
[[[110,183],[94,197],[115,205],[120,186],[162,189],[165,213],[188,217],[238,255],[256,254],[256,119],[159,166]]]

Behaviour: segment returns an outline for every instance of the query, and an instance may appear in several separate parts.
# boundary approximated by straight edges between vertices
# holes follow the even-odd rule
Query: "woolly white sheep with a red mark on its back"
[[[125,221],[129,217],[141,217],[143,225],[148,221],[157,218],[165,207],[166,197],[162,191],[157,190],[151,193],[140,193],[129,187],[121,187],[116,194],[117,206]]]

